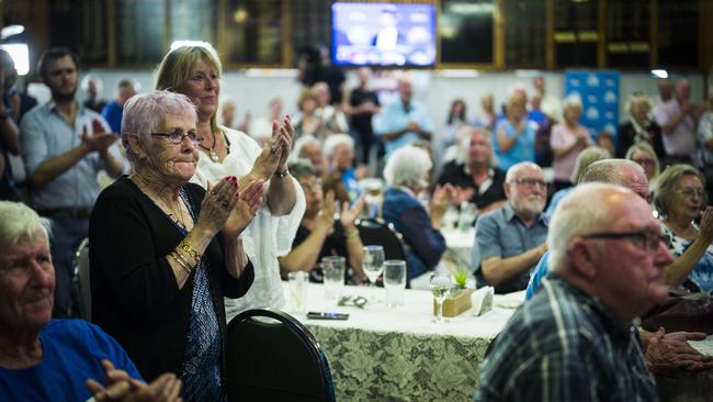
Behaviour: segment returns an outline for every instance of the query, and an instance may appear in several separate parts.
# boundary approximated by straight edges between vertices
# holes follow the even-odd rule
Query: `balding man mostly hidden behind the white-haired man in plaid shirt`
[[[579,180],[576,181],[578,185],[586,182],[607,182],[623,186],[640,194],[644,200],[648,199],[648,181],[646,180],[644,169],[631,160],[602,159],[595,161],[584,169]],[[544,256],[540,258],[537,266],[532,272],[525,292],[525,300],[529,300],[535,294],[537,289],[540,289],[543,278],[545,278],[550,271],[548,255],[550,253],[545,253]]]

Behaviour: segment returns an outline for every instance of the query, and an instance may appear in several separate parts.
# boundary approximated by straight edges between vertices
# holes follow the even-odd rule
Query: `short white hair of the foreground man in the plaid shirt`
[[[612,191],[633,192],[625,187],[603,183],[582,183],[569,192],[555,209],[547,230],[547,264],[553,271],[563,269],[571,239],[596,232],[611,221],[611,211],[604,198]]]

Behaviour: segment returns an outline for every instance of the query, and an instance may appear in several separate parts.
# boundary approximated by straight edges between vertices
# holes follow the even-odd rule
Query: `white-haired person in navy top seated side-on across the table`
[[[444,208],[431,209],[420,203],[418,196],[428,189],[431,160],[426,150],[404,146],[395,150],[384,167],[388,188],[384,194],[382,215],[404,236],[408,280],[431,270],[445,252],[445,239],[440,232]],[[437,188],[434,199],[440,199]]]

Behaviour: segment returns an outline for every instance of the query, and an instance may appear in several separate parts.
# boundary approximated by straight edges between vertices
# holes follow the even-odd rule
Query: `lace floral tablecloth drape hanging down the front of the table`
[[[338,401],[471,401],[491,340],[305,324],[329,359]]]

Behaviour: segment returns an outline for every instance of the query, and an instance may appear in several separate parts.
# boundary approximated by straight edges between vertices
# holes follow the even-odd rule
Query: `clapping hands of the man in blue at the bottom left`
[[[107,360],[102,360],[104,368],[103,387],[93,379],[87,380],[87,389],[92,393],[97,402],[123,401],[123,402],[173,402],[181,401],[181,380],[172,373],[163,373],[150,384],[128,377],[124,370],[114,368]]]

